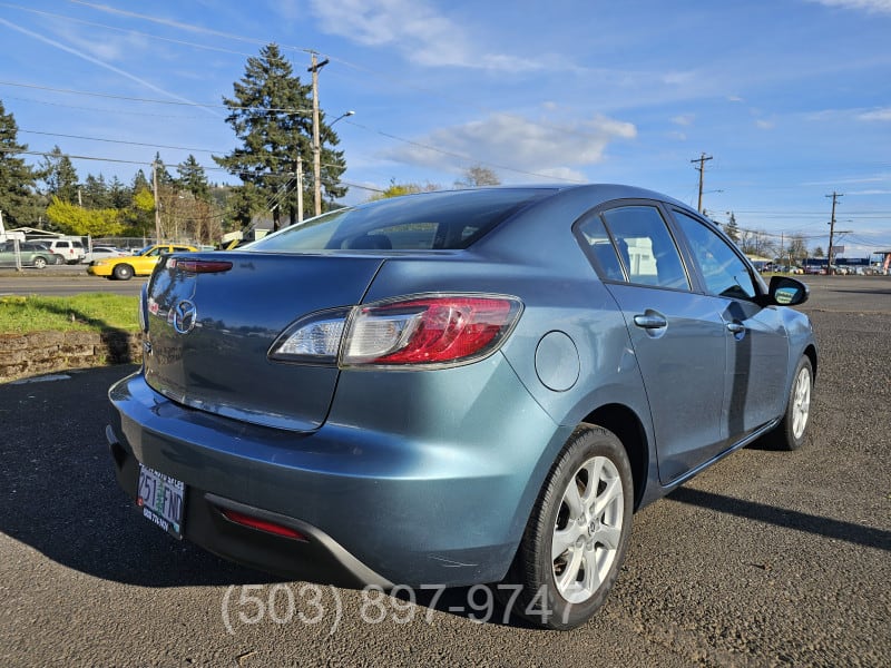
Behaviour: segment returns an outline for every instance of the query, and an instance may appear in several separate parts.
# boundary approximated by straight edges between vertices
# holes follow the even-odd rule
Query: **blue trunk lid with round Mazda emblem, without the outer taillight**
[[[146,381],[202,411],[278,429],[319,428],[336,366],[272,361],[270,346],[302,316],[360,303],[382,262],[249,252],[166,258],[147,286]]]

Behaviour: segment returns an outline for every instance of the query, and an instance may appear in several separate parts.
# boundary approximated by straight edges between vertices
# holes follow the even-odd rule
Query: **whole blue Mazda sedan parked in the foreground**
[[[146,531],[300,580],[486,587],[569,629],[635,511],[805,444],[807,296],[640,188],[383,199],[163,257],[106,438]]]

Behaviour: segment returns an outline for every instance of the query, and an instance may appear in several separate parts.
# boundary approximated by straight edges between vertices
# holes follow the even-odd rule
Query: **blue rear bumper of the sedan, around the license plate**
[[[359,428],[334,410],[310,433],[245,424],[176,404],[137,374],[109,391],[119,419],[108,430],[118,481],[135,497],[138,462],[182,480],[186,539],[285,577],[343,586],[497,581],[568,433],[500,355],[464,369],[473,366],[471,374],[501,387],[491,394],[510,410],[500,418],[483,406],[480,429],[477,416],[442,406],[451,441],[435,428],[419,436],[408,422],[400,432]],[[353,374],[352,391],[371,375]],[[351,392],[350,384],[342,379],[339,392]],[[392,400],[372,393],[363,419]],[[236,524],[226,508],[292,527],[306,540]]]

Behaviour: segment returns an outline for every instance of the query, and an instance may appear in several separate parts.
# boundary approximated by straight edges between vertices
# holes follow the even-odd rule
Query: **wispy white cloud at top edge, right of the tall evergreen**
[[[311,0],[322,30],[371,47],[391,46],[412,62],[497,71],[535,71],[547,59],[487,53],[453,20],[425,0]]]

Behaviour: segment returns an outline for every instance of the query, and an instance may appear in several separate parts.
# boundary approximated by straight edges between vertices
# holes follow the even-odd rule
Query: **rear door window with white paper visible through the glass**
[[[630,283],[689,289],[681,254],[655,206],[624,206],[603,217]]]

